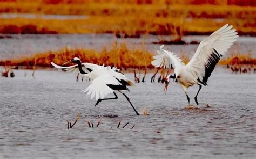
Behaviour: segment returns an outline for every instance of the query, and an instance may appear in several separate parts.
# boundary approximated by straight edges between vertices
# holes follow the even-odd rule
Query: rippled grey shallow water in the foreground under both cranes
[[[76,82],[75,74],[56,70],[14,70],[14,78],[0,77],[0,158],[255,158],[256,76],[214,70],[199,93],[199,109],[185,109],[186,96],[171,83],[130,86],[125,98],[95,107],[79,91],[90,82]],[[26,73],[26,77],[24,77]],[[133,80],[133,74],[127,73]],[[198,86],[188,90],[192,104]],[[110,95],[111,96],[111,95]],[[205,108],[206,104],[212,106]],[[67,129],[66,120],[77,124]],[[89,128],[87,121],[98,128]],[[117,128],[126,122],[125,128]],[[133,129],[131,127],[134,126]]]

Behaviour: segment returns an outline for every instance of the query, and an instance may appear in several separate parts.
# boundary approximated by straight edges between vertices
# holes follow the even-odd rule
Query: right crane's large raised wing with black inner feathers
[[[220,57],[224,55],[234,41],[237,41],[237,32],[235,29],[231,29],[232,27],[232,25],[226,24],[202,40],[196,53],[186,65],[187,69],[201,84],[207,85],[207,80]]]

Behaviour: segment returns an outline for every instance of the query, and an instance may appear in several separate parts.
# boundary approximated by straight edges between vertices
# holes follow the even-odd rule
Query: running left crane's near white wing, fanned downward
[[[103,99],[109,93],[114,92],[114,90],[107,85],[122,84],[117,80],[117,78],[108,74],[103,74],[95,78],[86,89],[82,90],[82,92],[87,92],[87,95],[91,94],[91,99],[93,97],[95,97],[96,100],[99,98]]]

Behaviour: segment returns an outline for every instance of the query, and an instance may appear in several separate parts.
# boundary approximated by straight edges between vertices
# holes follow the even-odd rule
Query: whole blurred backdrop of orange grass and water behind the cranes
[[[0,0],[0,64],[50,66],[79,56],[124,68],[151,67],[161,44],[187,62],[200,40],[226,23],[237,29],[239,45],[220,63],[238,56],[252,62],[253,0]]]

